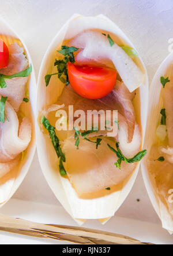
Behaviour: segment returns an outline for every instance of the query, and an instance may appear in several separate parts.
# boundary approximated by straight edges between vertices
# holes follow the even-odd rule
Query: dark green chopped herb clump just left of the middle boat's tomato
[[[66,85],[69,85],[69,77],[68,77],[68,72],[67,72],[67,63],[71,62],[74,63],[74,54],[73,52],[76,52],[78,50],[78,48],[76,47],[69,47],[66,45],[62,45],[61,46],[61,50],[58,50],[57,52],[62,54],[63,56],[65,56],[63,58],[63,60],[55,60],[54,66],[57,66],[57,73],[54,74],[48,74],[45,76],[45,82],[46,82],[46,86],[48,86],[51,76],[52,75],[58,75],[59,80],[62,83],[65,83]]]

